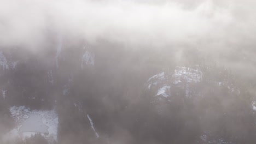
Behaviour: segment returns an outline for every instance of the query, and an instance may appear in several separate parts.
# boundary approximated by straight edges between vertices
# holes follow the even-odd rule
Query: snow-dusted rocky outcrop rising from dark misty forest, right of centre
[[[196,85],[200,82],[211,83],[209,87],[216,86],[225,88],[226,91],[232,94],[240,94],[240,89],[235,85],[234,81],[230,79],[231,75],[225,74],[225,70],[224,72],[219,71],[218,76],[221,78],[214,77],[212,80],[205,80],[203,79],[203,69],[206,69],[205,73],[211,75],[211,68],[200,65],[193,67],[176,67],[172,71],[165,70],[150,77],[147,81],[147,87],[148,89],[153,89],[156,96],[165,98],[170,97],[174,93],[174,90],[177,89],[184,92],[185,98],[191,98],[193,95],[198,95],[200,89],[196,89]]]

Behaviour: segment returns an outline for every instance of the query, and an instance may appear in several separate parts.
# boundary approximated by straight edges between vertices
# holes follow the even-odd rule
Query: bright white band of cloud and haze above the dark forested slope
[[[37,43],[49,29],[91,42],[156,46],[254,40],[250,1],[0,1],[1,44]]]

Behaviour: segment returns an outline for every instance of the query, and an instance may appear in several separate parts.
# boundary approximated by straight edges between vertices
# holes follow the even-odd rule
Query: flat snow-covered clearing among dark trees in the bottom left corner
[[[25,106],[13,106],[10,107],[10,112],[16,122],[16,127],[4,136],[4,140],[25,139],[39,133],[49,142],[57,141],[58,116],[55,110],[31,111]]]

